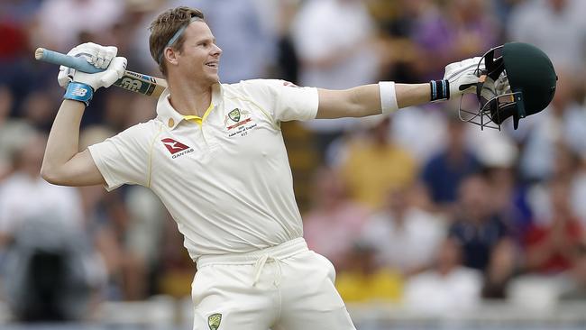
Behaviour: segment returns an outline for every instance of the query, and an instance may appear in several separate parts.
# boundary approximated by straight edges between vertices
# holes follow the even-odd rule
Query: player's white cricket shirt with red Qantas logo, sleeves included
[[[316,117],[316,88],[283,80],[216,84],[203,118],[160,96],[157,118],[88,149],[106,189],[160,197],[189,255],[252,252],[302,236],[279,123]]]

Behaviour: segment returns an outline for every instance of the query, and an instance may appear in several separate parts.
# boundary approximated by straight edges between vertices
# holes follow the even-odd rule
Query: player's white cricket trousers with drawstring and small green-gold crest
[[[334,266],[297,238],[248,253],[203,256],[194,330],[354,330]]]

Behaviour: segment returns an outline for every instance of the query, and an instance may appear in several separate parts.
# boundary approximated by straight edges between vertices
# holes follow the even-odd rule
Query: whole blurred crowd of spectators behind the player
[[[284,123],[309,247],[348,303],[421,313],[484,299],[586,301],[586,2],[581,0],[3,0],[0,3],[0,300],[15,319],[75,320],[105,300],[189,295],[195,265],[142,187],[64,188],[39,171],[63,90],[44,47],[118,47],[160,77],[148,26],[206,14],[220,78],[347,88],[443,77],[507,41],[549,55],[554,101],[517,131],[462,122],[459,100],[392,116]],[[81,148],[155,115],[115,87],[84,115]]]

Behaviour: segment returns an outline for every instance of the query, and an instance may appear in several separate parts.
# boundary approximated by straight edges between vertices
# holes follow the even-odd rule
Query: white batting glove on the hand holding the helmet
[[[450,98],[465,93],[476,93],[476,84],[479,82],[477,69],[484,68],[484,60],[481,57],[448,64],[445,67],[444,79],[450,82]]]

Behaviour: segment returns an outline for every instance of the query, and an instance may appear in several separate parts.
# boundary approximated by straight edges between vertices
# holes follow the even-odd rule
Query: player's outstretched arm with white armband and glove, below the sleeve
[[[445,69],[444,80],[426,84],[380,82],[345,90],[318,89],[316,118],[363,117],[391,113],[411,105],[446,100],[476,92],[479,78],[474,73],[480,58],[462,60]]]

